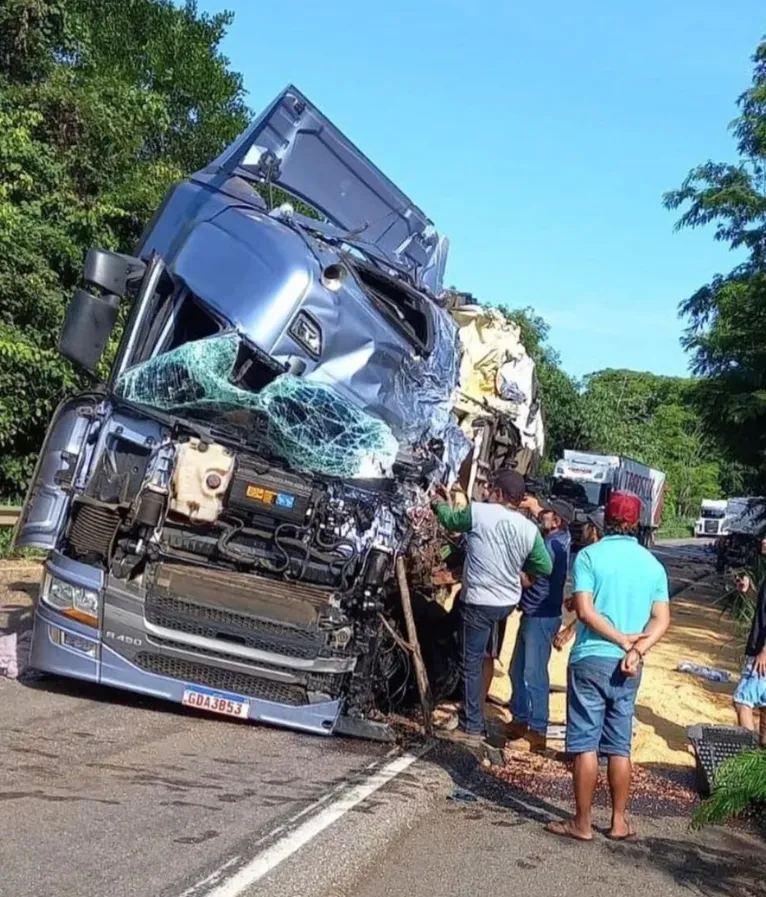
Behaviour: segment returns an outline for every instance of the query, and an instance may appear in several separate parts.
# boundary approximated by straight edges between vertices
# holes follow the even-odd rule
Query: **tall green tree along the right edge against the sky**
[[[751,86],[732,123],[739,161],[706,162],[665,195],[682,210],[678,228],[714,226],[715,239],[742,261],[716,275],[681,304],[689,320],[684,343],[702,376],[700,407],[710,431],[766,484],[766,40],[753,56]]]

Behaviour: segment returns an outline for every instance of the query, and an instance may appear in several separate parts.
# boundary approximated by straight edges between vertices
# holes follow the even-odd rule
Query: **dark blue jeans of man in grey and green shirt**
[[[460,605],[463,707],[459,722],[466,732],[484,732],[484,659],[497,657],[501,624],[512,609],[488,604]]]

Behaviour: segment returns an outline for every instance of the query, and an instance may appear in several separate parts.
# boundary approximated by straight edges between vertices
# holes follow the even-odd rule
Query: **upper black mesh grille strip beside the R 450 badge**
[[[173,632],[218,639],[287,657],[313,660],[325,646],[325,635],[316,630],[167,595],[147,595],[144,615],[148,623]]]

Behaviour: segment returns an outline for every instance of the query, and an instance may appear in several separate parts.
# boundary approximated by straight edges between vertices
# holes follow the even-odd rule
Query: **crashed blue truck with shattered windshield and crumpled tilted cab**
[[[475,494],[542,449],[518,331],[443,290],[446,257],[293,87],[135,257],[91,250],[62,353],[94,372],[127,319],[107,382],[58,408],[16,530],[48,552],[31,666],[386,737],[373,711],[409,687],[394,561],[421,608],[459,589],[433,486]],[[449,690],[452,630],[421,627]]]

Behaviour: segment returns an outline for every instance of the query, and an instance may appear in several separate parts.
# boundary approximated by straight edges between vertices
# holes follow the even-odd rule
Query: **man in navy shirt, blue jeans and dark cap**
[[[550,710],[550,676],[553,640],[561,626],[564,585],[569,572],[569,526],[574,508],[555,500],[539,513],[545,549],[550,555],[550,576],[522,583],[519,608],[521,623],[511,660],[511,715],[508,727],[511,750],[544,751]]]

